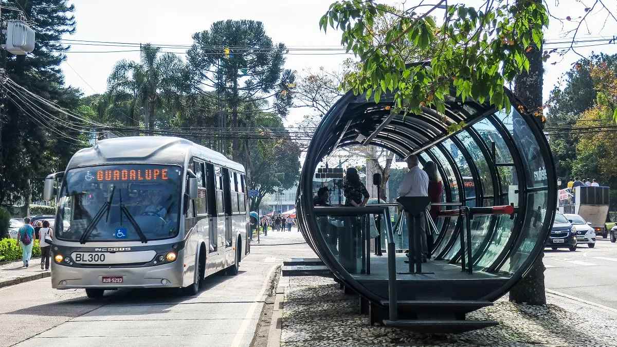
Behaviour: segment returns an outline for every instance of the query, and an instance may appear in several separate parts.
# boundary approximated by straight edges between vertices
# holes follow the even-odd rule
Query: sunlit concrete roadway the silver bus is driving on
[[[271,232],[262,244],[297,243]],[[88,299],[54,290],[49,278],[0,289],[0,346],[248,346],[276,265],[314,257],[307,245],[252,246],[238,276],[207,278],[196,296],[175,290],[120,290]]]

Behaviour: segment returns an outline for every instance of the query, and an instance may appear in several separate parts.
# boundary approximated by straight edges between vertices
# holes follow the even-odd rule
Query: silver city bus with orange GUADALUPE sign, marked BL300
[[[166,136],[102,140],[48,175],[56,196],[52,288],[90,298],[118,288],[182,288],[238,274],[250,252],[241,164]]]

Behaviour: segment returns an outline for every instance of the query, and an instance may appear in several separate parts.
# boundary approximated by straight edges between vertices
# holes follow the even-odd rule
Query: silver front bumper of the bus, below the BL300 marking
[[[170,288],[182,286],[181,261],[147,267],[70,267],[51,264],[51,286],[71,288]],[[106,283],[113,278],[114,283]],[[118,282],[122,278],[122,282]]]

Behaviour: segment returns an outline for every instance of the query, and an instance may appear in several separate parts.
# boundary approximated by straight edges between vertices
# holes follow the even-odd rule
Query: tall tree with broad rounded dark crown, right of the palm
[[[193,72],[193,86],[199,91],[215,91],[231,110],[231,127],[239,127],[239,107],[261,100],[272,106],[262,111],[288,114],[292,104],[295,75],[284,70],[285,45],[273,44],[262,22],[222,20],[210,30],[193,35],[187,59]],[[252,118],[252,114],[245,114]],[[225,119],[227,115],[225,115]],[[226,123],[226,122],[225,122]],[[239,160],[239,141],[232,144],[232,155]]]

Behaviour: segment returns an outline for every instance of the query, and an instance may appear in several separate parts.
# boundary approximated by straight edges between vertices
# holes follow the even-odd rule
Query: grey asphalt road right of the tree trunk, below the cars
[[[545,249],[546,288],[617,309],[617,243],[597,238],[595,248]]]

